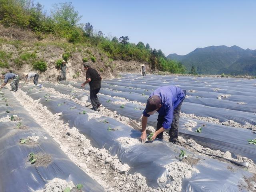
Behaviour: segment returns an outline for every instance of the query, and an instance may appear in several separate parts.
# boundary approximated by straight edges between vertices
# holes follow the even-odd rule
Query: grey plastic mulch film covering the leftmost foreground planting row
[[[43,189],[48,180],[61,178],[74,184],[83,184],[84,191],[104,191],[95,180],[76,166],[62,152],[59,145],[38,125],[7,89],[1,89],[0,118],[17,115],[20,120],[0,121],[0,191],[32,192]],[[6,98],[6,99],[5,99]],[[8,113],[6,113],[6,110]],[[38,136],[28,145],[20,144],[21,138]],[[46,164],[28,161],[28,155],[43,156]]]

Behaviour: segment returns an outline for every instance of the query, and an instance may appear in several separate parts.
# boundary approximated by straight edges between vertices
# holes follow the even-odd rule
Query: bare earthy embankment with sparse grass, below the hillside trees
[[[23,77],[24,72],[35,71],[40,75],[40,80],[51,82],[57,81],[59,70],[56,68],[56,62],[66,53],[70,54],[67,80],[73,81],[85,79],[83,58],[86,58],[103,78],[117,77],[118,72],[140,73],[142,65],[136,61],[113,61],[102,50],[90,44],[72,44],[53,36],[38,40],[28,30],[5,28],[2,25],[0,25],[0,51],[0,72],[14,72]],[[47,63],[45,72],[33,69],[33,63],[39,60]],[[150,72],[149,65],[145,65],[147,72]]]

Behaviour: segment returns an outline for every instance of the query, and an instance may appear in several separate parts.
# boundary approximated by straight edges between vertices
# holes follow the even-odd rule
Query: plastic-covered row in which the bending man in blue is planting
[[[28,88],[24,87],[26,91]],[[131,169],[130,173],[139,172],[146,177],[147,184],[152,187],[164,188],[172,183],[172,178],[168,178],[168,164],[177,162],[180,149],[182,147],[164,141],[147,142],[146,144],[134,144],[125,146],[118,138],[139,138],[140,132],[134,130],[112,118],[100,116],[94,112],[70,100],[43,96],[46,92],[37,92],[30,90],[28,95],[34,99],[40,99],[39,102],[47,106],[53,114],[62,112],[60,116],[64,122],[68,122],[70,127],[75,126],[80,133],[91,140],[91,144],[97,148],[106,148],[112,155],[117,154],[121,162],[127,163]],[[58,103],[65,102],[65,105],[58,106]],[[81,111],[85,111],[81,114]],[[108,123],[104,123],[104,122]],[[194,156],[188,152],[188,156]],[[218,160],[197,157],[200,159],[198,164],[192,165],[198,172],[193,172],[192,176],[183,179],[182,191],[227,191],[235,192],[238,190],[248,191],[241,188],[237,183],[246,186],[244,177],[251,177],[252,174],[243,169],[236,168],[235,171],[228,169],[233,166],[226,162]],[[161,178],[161,180],[159,180]],[[199,178],[199,179],[197,179]],[[205,179],[202,179],[205,178]],[[164,182],[163,182],[164,180]]]

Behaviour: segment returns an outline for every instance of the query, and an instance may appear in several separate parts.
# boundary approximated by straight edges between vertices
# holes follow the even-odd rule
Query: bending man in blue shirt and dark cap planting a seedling
[[[186,90],[176,86],[163,86],[154,90],[149,98],[142,116],[142,134],[141,140],[146,140],[146,125],[148,117],[158,112],[156,132],[152,136],[163,139],[163,131],[169,129],[169,142],[176,142],[178,139],[178,128],[180,118],[180,108],[186,96]]]

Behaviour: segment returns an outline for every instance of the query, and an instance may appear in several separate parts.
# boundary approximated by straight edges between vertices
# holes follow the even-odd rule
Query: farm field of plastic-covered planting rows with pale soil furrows
[[[0,90],[0,191],[256,190],[254,79],[122,74],[102,81],[99,112],[78,100],[81,82],[40,84]],[[178,142],[141,144],[132,123],[166,85],[187,92]]]

